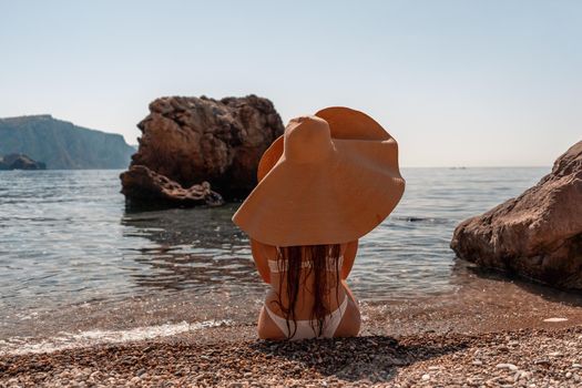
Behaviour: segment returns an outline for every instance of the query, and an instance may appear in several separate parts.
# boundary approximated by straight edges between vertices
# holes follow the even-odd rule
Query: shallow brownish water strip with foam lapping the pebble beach
[[[451,292],[391,299],[359,299],[365,335],[487,333],[519,328],[553,328],[552,317],[582,325],[582,294],[508,278],[499,273],[468,275]],[[59,308],[6,310],[0,323],[0,354],[13,337],[45,339],[63,333],[123,331],[163,325],[228,321],[254,326],[267,287],[255,292],[216,289],[200,294],[150,294],[95,300]],[[356,298],[359,295],[356,294]]]

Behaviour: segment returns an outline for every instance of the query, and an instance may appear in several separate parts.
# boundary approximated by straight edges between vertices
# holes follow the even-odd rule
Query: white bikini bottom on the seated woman
[[[339,307],[336,308],[330,314],[326,315],[326,317],[324,318],[324,327],[321,330],[321,336],[318,336],[317,333],[314,330],[309,319],[297,320],[297,321],[289,320],[290,333],[293,333],[295,330],[295,326],[297,326],[297,330],[295,331],[295,335],[292,337],[289,330],[287,329],[287,320],[283,317],[279,317],[275,313],[273,313],[265,304],[265,310],[267,312],[270,319],[273,319],[275,325],[277,325],[277,327],[285,335],[285,337],[287,337],[287,339],[293,339],[293,340],[305,339],[305,338],[319,338],[319,337],[331,338],[334,337],[334,334],[336,333],[336,329],[339,326],[339,323],[341,321],[341,317],[344,317],[344,313],[346,313],[347,307],[348,307],[348,296],[344,295],[344,302],[341,302]],[[314,326],[317,327],[316,323],[314,323]]]

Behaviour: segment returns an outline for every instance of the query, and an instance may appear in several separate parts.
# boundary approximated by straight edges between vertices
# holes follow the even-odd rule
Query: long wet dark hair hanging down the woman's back
[[[289,333],[289,337],[295,336],[297,331],[297,325],[294,325],[295,329],[290,333],[289,321],[297,321],[295,318],[295,306],[302,286],[307,286],[313,290],[314,305],[312,308],[310,325],[318,336],[321,335],[325,317],[331,313],[329,308],[331,300],[330,295],[328,295],[329,288],[336,287],[336,299],[339,299],[339,244],[297,245],[277,248],[277,265],[282,277],[279,282],[278,300],[276,303],[287,321],[287,333]],[[302,265],[303,263],[306,264]],[[305,268],[306,270],[304,270],[304,276],[302,276],[302,268],[305,266],[307,267]],[[328,270],[336,275],[335,284],[328,284]],[[310,274],[314,275],[313,283],[309,285],[305,284],[308,278],[312,278],[309,276]],[[283,289],[283,283],[286,284],[285,289]],[[283,294],[287,297],[286,304],[283,304]]]

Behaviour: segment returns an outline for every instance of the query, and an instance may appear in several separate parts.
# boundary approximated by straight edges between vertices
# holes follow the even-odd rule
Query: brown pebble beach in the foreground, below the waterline
[[[0,372],[2,387],[580,387],[582,326],[297,343],[143,341],[3,357]]]

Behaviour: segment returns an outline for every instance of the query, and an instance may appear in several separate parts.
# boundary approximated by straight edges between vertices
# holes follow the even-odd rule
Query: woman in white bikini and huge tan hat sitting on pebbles
[[[358,239],[404,193],[396,141],[361,112],[327,108],[290,120],[257,176],[233,222],[248,234],[270,285],[258,336],[357,336],[360,313],[346,278]]]

